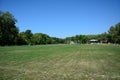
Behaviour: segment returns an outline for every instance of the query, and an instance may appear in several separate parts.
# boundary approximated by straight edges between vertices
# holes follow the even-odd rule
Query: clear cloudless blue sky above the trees
[[[20,31],[65,38],[100,34],[120,22],[120,0],[0,0]]]

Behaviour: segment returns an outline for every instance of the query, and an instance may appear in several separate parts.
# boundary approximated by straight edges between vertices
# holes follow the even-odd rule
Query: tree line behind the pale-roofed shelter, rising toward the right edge
[[[72,37],[67,37],[66,40],[69,43],[74,41],[75,43],[85,44],[91,39],[97,39],[99,43],[112,43],[120,44],[120,23],[115,26],[111,26],[108,32],[97,35],[76,35]]]

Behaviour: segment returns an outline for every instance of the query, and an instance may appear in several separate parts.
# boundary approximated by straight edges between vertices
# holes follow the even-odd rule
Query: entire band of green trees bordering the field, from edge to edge
[[[20,32],[15,25],[17,20],[9,12],[0,11],[0,46],[5,45],[41,45],[41,44],[65,44],[73,41],[79,44],[88,43],[90,39],[99,42],[120,44],[120,23],[111,26],[108,32],[97,35],[76,35],[64,39],[51,37],[43,33],[32,33],[31,30]]]

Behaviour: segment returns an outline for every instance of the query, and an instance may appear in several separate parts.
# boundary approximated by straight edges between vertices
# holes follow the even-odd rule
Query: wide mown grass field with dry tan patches
[[[120,80],[120,46],[0,47],[0,80]]]

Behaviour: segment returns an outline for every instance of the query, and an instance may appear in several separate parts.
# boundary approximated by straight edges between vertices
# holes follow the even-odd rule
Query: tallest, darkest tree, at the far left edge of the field
[[[9,12],[0,11],[0,45],[14,45],[18,37],[17,20]]]

